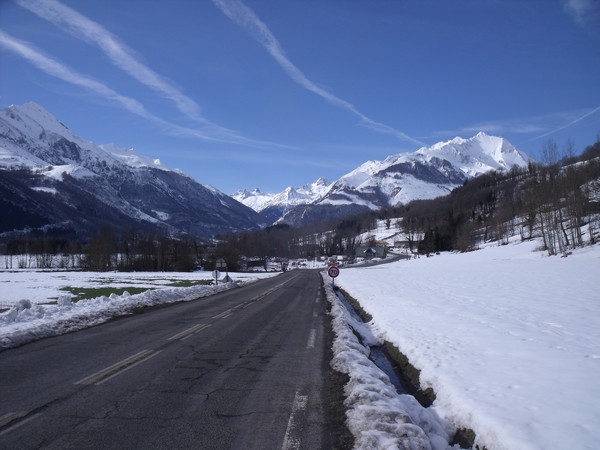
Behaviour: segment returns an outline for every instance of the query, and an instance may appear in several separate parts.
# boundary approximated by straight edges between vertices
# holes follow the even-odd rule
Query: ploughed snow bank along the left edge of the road
[[[246,279],[246,282],[249,281]],[[0,350],[95,326],[113,317],[131,314],[138,308],[186,302],[237,286],[231,282],[218,286],[166,287],[135,295],[125,291],[123,295],[111,294],[77,303],[72,303],[68,295],[62,295],[56,304],[51,305],[22,299],[0,314]]]

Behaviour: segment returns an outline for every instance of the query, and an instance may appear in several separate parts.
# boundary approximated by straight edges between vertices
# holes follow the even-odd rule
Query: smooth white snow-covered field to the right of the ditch
[[[598,448],[600,246],[560,258],[538,245],[342,269],[336,284],[480,446]]]

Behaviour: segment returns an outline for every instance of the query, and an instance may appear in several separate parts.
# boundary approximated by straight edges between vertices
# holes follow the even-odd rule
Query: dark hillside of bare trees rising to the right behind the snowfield
[[[546,144],[556,159],[555,144]],[[600,142],[579,157],[491,171],[466,181],[449,195],[417,200],[337,222],[304,228],[286,225],[227,238],[219,252],[236,255],[313,257],[352,255],[357,238],[377,219],[398,228],[410,251],[469,251],[480,243],[506,243],[513,235],[541,238],[549,255],[566,255],[593,244],[600,230]],[[371,243],[374,244],[374,243]]]

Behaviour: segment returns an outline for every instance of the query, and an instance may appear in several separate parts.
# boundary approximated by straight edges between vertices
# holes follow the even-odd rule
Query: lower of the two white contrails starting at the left
[[[186,128],[177,124],[170,123],[152,114],[139,101],[131,97],[119,94],[118,92],[106,86],[105,84],[93,78],[78,73],[73,68],[45,55],[40,50],[36,49],[33,45],[25,41],[16,39],[8,33],[5,33],[1,29],[0,48],[4,48],[5,50],[8,50],[22,57],[23,59],[25,59],[26,61],[33,64],[38,69],[42,70],[43,72],[49,75],[59,78],[67,83],[71,83],[73,85],[92,91],[93,93],[99,95],[102,98],[116,102],[117,104],[125,108],[127,111],[146,120],[149,120],[157,125],[162,126],[170,134],[178,136],[187,136],[211,142],[235,143],[249,145],[253,147],[277,146],[290,148],[287,146],[281,146],[270,142],[254,141],[242,136],[232,135],[231,133],[222,134],[212,129],[207,132],[205,130]]]

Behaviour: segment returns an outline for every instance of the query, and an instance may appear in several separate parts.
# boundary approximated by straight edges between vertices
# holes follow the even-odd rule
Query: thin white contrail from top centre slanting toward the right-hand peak
[[[389,125],[367,117],[360,112],[352,103],[343,100],[331,92],[311,81],[304,73],[296,67],[292,61],[286,56],[285,51],[281,47],[279,41],[275,38],[267,25],[258,18],[258,16],[239,0],[213,0],[213,3],[234,23],[244,28],[250,35],[258,41],[269,54],[277,61],[284,72],[296,83],[304,89],[313,92],[314,94],[327,100],[329,103],[350,111],[360,119],[360,124],[366,126],[378,133],[390,134],[403,141],[408,141],[418,145],[425,145],[421,141],[414,139],[407,134],[399,131]]]

